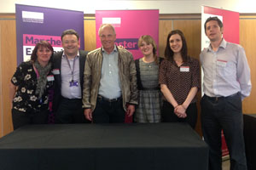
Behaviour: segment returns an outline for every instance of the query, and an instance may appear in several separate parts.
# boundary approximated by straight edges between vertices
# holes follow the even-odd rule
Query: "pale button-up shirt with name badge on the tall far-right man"
[[[201,52],[200,59],[204,73],[204,94],[210,97],[225,97],[241,92],[241,99],[250,95],[250,68],[241,45],[223,39],[218,51],[213,51],[209,45]]]

